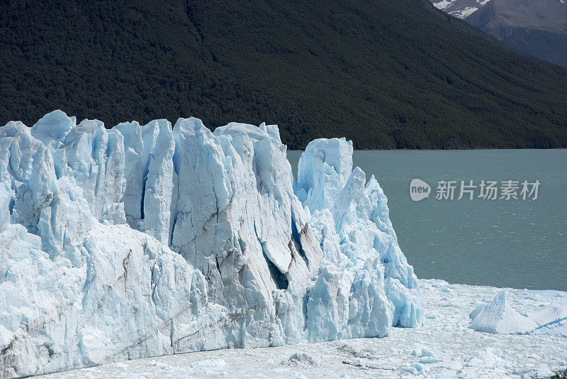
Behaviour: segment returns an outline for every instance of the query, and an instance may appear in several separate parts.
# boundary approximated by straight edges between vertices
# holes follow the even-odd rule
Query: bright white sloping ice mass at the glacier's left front
[[[0,376],[173,353],[175,317],[194,322],[213,307],[203,275],[155,238],[99,222],[75,170],[57,178],[30,129],[0,128],[0,144],[10,221],[0,229]],[[82,185],[87,171],[103,177],[82,158]]]

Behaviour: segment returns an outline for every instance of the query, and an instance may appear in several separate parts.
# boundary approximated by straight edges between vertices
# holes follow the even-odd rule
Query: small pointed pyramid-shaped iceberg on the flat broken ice
[[[471,322],[471,329],[495,334],[524,334],[537,328],[537,324],[510,307],[506,291],[496,295]]]

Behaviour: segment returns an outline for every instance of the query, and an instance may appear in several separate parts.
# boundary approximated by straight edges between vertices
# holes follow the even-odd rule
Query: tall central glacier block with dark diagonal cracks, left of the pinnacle
[[[179,119],[173,133],[172,247],[206,275],[211,299],[237,312],[225,344],[301,341],[297,304],[321,251],[293,193],[285,146],[247,124],[211,133],[198,119]]]

